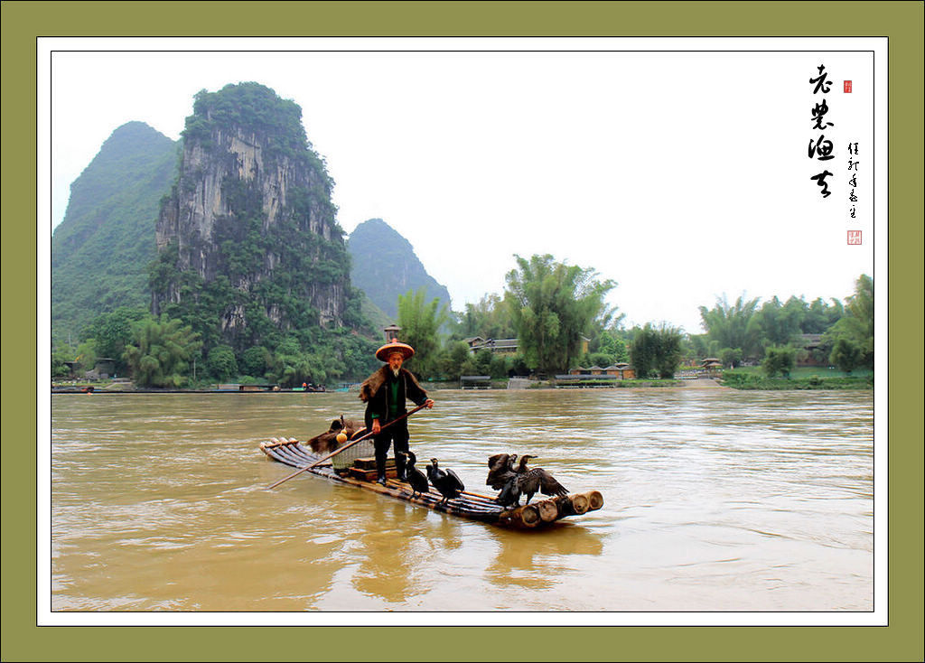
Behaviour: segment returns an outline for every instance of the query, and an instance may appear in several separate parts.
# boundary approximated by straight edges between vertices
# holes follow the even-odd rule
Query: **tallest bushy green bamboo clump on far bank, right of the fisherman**
[[[505,276],[520,351],[527,365],[553,374],[569,368],[581,352],[582,336],[606,310],[604,298],[616,284],[598,281],[593,269],[557,263],[549,254],[526,260]]]

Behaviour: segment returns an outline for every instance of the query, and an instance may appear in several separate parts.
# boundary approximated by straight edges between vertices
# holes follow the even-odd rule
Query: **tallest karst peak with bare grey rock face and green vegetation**
[[[239,348],[343,323],[350,260],[301,117],[257,83],[196,95],[157,220],[154,314],[211,312]]]

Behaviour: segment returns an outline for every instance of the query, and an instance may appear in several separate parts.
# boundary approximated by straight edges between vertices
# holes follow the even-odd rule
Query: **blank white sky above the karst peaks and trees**
[[[616,281],[609,301],[627,325],[700,333],[698,307],[723,294],[844,300],[857,276],[873,276],[874,60],[845,52],[873,45],[882,44],[40,40],[40,62],[47,49],[51,63],[51,227],[117,127],[140,120],[176,140],[195,92],[254,80],[302,107],[337,183],[340,226],[384,219],[447,286],[454,310],[503,292],[514,253],[551,253]],[[178,50],[204,48],[223,51]],[[653,48],[674,52],[625,52]],[[689,50],[706,48],[752,52]],[[603,50],[558,52],[569,49]],[[833,87],[814,95],[820,64]],[[879,100],[886,77],[877,80]],[[823,96],[835,158],[820,164],[807,150]],[[860,148],[854,220],[849,141]],[[820,166],[833,172],[827,199],[809,179]],[[848,229],[862,231],[861,246],[847,245]]]

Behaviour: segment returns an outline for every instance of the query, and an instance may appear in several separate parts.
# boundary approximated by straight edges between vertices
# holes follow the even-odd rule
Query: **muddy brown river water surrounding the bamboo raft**
[[[257,448],[355,394],[56,396],[57,610],[870,610],[870,393],[437,391],[412,447],[489,494],[536,455],[604,508],[509,532]]]

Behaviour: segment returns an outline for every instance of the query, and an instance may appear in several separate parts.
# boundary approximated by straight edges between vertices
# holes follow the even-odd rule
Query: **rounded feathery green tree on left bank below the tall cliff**
[[[182,387],[189,362],[203,342],[190,326],[162,315],[144,318],[134,327],[134,342],[123,357],[139,387]]]

